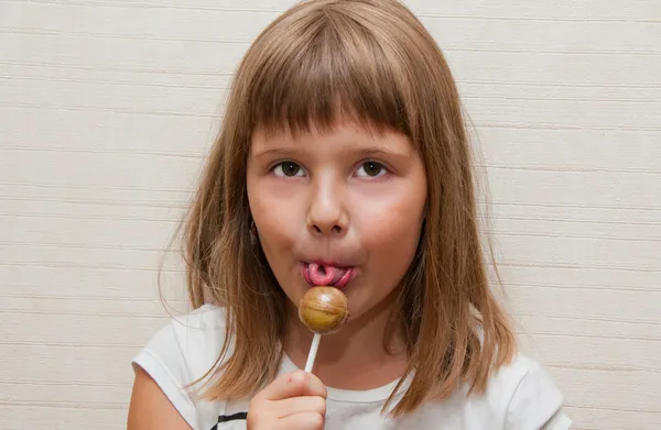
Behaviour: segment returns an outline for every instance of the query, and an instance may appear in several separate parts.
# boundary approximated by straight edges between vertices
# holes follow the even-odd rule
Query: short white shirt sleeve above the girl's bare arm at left
[[[142,367],[154,379],[191,428],[196,429],[195,404],[186,389],[192,375],[175,324],[177,322],[171,321],[152,335],[132,364]]]

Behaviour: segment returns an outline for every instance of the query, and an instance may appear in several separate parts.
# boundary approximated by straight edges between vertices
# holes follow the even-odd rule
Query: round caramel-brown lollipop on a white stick
[[[305,372],[311,372],[322,334],[342,329],[349,316],[347,296],[334,287],[313,287],[299,304],[299,318],[314,333]]]

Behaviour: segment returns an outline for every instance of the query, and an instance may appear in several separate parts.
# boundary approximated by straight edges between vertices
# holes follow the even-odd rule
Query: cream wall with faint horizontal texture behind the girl
[[[124,426],[161,250],[291,3],[0,0],[1,429]],[[661,2],[407,3],[479,134],[527,352],[576,429],[661,428]]]

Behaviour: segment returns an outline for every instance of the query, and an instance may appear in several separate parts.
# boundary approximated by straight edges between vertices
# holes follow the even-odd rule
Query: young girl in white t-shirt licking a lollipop
[[[129,429],[568,429],[489,291],[466,134],[395,0],[311,0],[269,25],[186,220],[195,310],[134,359]],[[305,373],[314,285],[349,319]]]

